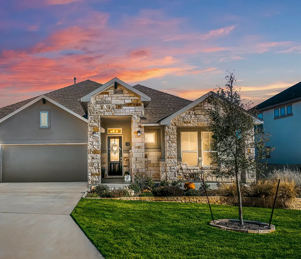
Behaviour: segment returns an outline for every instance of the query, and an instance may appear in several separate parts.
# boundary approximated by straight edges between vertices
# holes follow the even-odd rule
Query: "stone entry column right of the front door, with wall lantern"
[[[138,136],[137,131],[140,130],[141,136]],[[145,172],[145,157],[144,157],[144,126],[141,126],[141,120],[137,115],[132,115],[132,161],[131,171],[135,176],[137,172]]]

